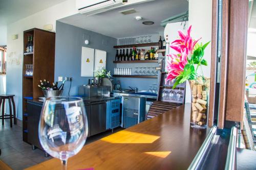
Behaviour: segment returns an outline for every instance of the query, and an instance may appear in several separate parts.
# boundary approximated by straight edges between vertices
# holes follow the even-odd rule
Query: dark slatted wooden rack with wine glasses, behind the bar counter
[[[173,89],[175,80],[172,82],[165,82],[167,77],[166,72],[161,72],[157,101],[153,102],[148,110],[147,119],[156,117],[164,112],[176,108],[185,102],[186,82],[179,84]]]

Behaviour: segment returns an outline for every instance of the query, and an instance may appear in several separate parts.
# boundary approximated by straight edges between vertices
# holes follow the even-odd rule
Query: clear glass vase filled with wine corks
[[[188,82],[191,90],[190,126],[206,128],[210,79],[199,77],[196,80],[188,80]]]

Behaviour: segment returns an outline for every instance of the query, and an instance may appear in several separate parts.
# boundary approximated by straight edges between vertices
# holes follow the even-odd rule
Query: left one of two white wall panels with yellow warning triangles
[[[82,46],[81,55],[81,76],[93,77],[94,70],[94,49]]]

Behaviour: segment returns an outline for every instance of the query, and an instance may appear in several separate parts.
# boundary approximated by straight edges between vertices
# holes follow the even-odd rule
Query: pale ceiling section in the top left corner
[[[64,1],[66,0],[0,0],[0,26],[6,26]]]

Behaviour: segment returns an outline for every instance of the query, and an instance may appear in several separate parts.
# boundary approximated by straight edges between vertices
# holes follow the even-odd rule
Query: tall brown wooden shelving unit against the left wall
[[[33,52],[26,53],[28,37],[33,36]],[[55,33],[37,28],[24,31],[23,60],[23,140],[29,143],[27,100],[44,96],[40,80],[54,81]],[[33,64],[33,76],[26,76],[26,64]],[[38,125],[34,125],[38,126]]]

